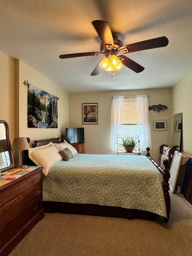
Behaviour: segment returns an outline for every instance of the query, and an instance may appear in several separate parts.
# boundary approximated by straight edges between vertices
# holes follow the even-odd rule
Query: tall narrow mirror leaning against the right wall
[[[173,137],[172,147],[179,146],[179,151],[182,152],[182,113],[173,115]]]

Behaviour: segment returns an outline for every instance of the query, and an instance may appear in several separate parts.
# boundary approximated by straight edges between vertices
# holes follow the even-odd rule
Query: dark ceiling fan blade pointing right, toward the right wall
[[[165,36],[162,36],[162,37],[153,38],[153,39],[141,41],[134,44],[127,44],[122,46],[120,50],[125,50],[126,48],[128,48],[127,53],[132,53],[132,52],[137,52],[137,51],[142,51],[147,49],[165,47],[167,46],[168,43],[169,43],[168,38]],[[123,53],[126,53],[126,52],[123,52]]]

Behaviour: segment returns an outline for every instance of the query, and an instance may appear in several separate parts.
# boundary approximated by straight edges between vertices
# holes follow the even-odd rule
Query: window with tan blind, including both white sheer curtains
[[[140,149],[151,146],[148,95],[135,98],[113,96],[111,108],[111,149],[117,149],[117,139],[123,134],[139,135]]]

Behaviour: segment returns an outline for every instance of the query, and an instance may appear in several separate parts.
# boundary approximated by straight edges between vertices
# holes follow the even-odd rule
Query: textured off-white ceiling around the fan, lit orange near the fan
[[[108,21],[124,45],[161,36],[169,44],[126,55],[145,68],[141,73],[124,67],[112,78],[109,71],[90,76],[102,56],[58,56],[100,50],[93,20]],[[191,0],[0,1],[0,51],[67,92],[171,87],[192,72],[191,41]]]

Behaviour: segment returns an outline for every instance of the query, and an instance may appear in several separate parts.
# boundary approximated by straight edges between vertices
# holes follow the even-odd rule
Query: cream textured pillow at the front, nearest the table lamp
[[[53,164],[62,161],[63,158],[59,154],[58,149],[56,149],[52,142],[47,145],[40,146],[37,148],[29,149],[29,158],[37,165],[44,167],[43,173],[45,176],[49,173],[50,168]]]

